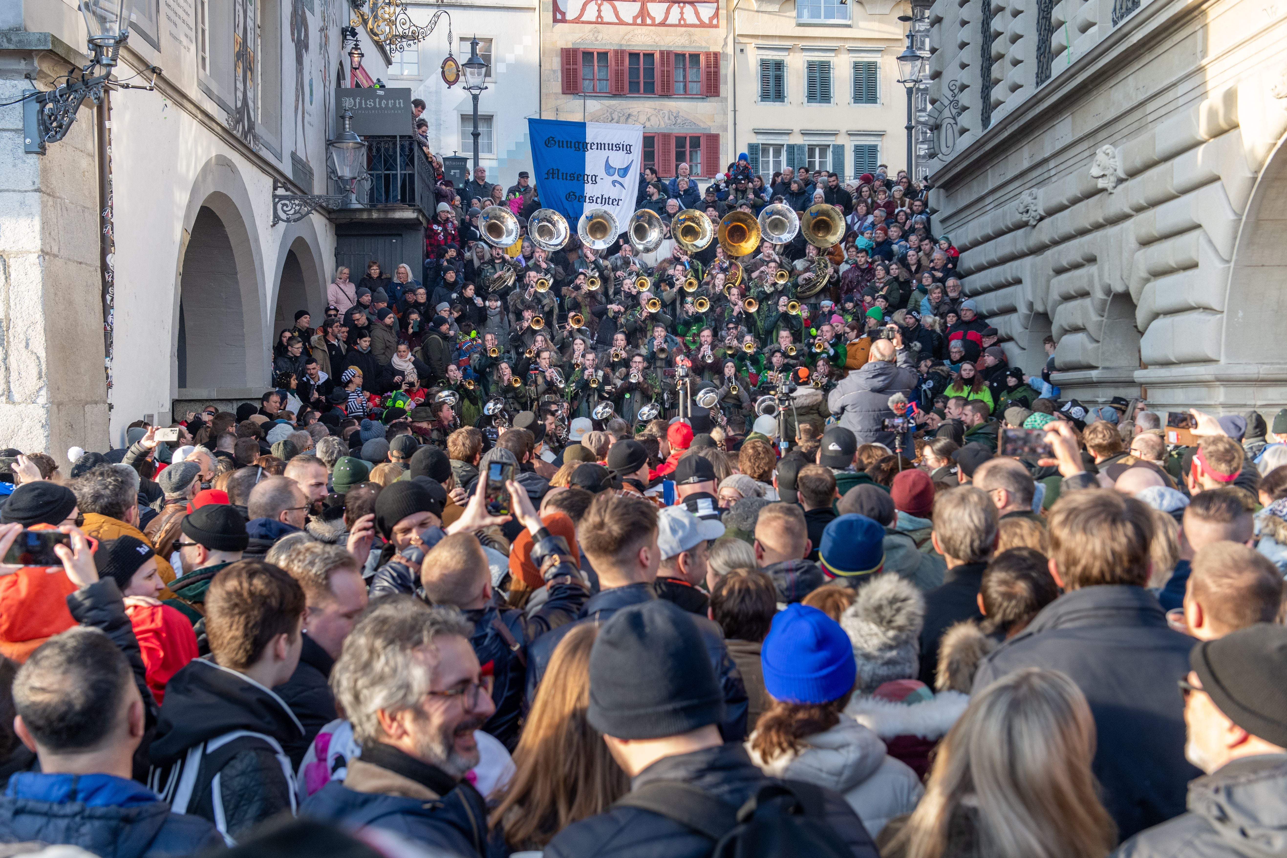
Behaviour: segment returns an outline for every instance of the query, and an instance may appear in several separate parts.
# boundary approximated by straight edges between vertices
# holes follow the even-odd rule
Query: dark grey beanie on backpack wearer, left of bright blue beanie
[[[673,602],[632,605],[589,652],[591,726],[616,738],[663,738],[725,718],[723,693],[692,616]]]

